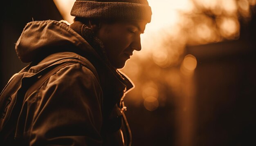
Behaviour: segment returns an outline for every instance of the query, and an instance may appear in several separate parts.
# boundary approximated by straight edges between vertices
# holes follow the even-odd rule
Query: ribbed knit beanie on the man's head
[[[92,19],[151,21],[147,0],[76,0],[71,15]]]

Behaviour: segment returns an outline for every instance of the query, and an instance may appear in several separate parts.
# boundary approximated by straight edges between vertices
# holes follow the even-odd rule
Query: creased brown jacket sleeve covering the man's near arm
[[[92,71],[81,64],[64,67],[38,91],[29,144],[101,145],[101,97]]]

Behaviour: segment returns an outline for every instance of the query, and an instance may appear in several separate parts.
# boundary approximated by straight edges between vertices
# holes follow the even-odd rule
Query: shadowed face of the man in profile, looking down
[[[124,67],[134,50],[141,50],[140,35],[147,22],[130,20],[101,23],[97,37],[103,42],[110,63],[117,69]]]

